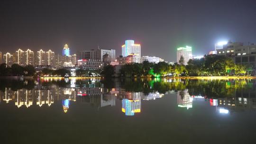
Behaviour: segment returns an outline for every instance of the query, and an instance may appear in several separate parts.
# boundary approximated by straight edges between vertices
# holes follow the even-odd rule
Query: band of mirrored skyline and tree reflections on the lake
[[[4,81],[4,80],[3,80]],[[15,83],[15,84],[14,84]],[[0,102],[17,108],[32,105],[50,107],[61,102],[64,113],[75,103],[89,104],[97,109],[116,106],[126,116],[141,112],[142,100],[155,100],[165,94],[177,96],[181,109],[193,108],[194,101],[207,101],[216,112],[256,110],[256,80],[190,80],[190,79],[54,79],[7,80],[0,85]],[[71,101],[74,103],[71,104]]]

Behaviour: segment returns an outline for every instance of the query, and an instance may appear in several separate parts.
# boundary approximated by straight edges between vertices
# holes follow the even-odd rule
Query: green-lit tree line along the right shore
[[[108,65],[102,74],[111,76],[114,68]],[[227,76],[227,75],[249,75],[253,73],[253,66],[236,64],[224,55],[205,55],[201,59],[190,59],[187,65],[181,57],[179,63],[168,64],[165,62],[149,63],[127,63],[122,66],[122,76]]]

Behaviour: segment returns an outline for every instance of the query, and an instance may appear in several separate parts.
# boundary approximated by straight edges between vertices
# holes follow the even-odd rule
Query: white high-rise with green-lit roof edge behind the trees
[[[179,63],[181,57],[184,59],[184,64],[186,65],[190,59],[192,59],[192,47],[179,47],[177,48],[177,63]]]

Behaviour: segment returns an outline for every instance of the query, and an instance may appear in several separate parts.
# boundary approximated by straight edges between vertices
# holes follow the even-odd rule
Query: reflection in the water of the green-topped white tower
[[[192,108],[193,98],[190,97],[188,90],[180,90],[177,92],[177,104],[181,108]]]

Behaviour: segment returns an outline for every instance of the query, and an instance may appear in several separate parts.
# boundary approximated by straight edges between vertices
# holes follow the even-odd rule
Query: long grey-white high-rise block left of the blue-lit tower
[[[105,50],[105,49],[96,49],[96,50],[84,50],[84,51],[79,51],[77,52],[77,59],[82,60],[99,60],[103,61],[103,55],[104,54],[109,54],[111,60],[116,59],[116,50],[110,49],[110,50]]]

